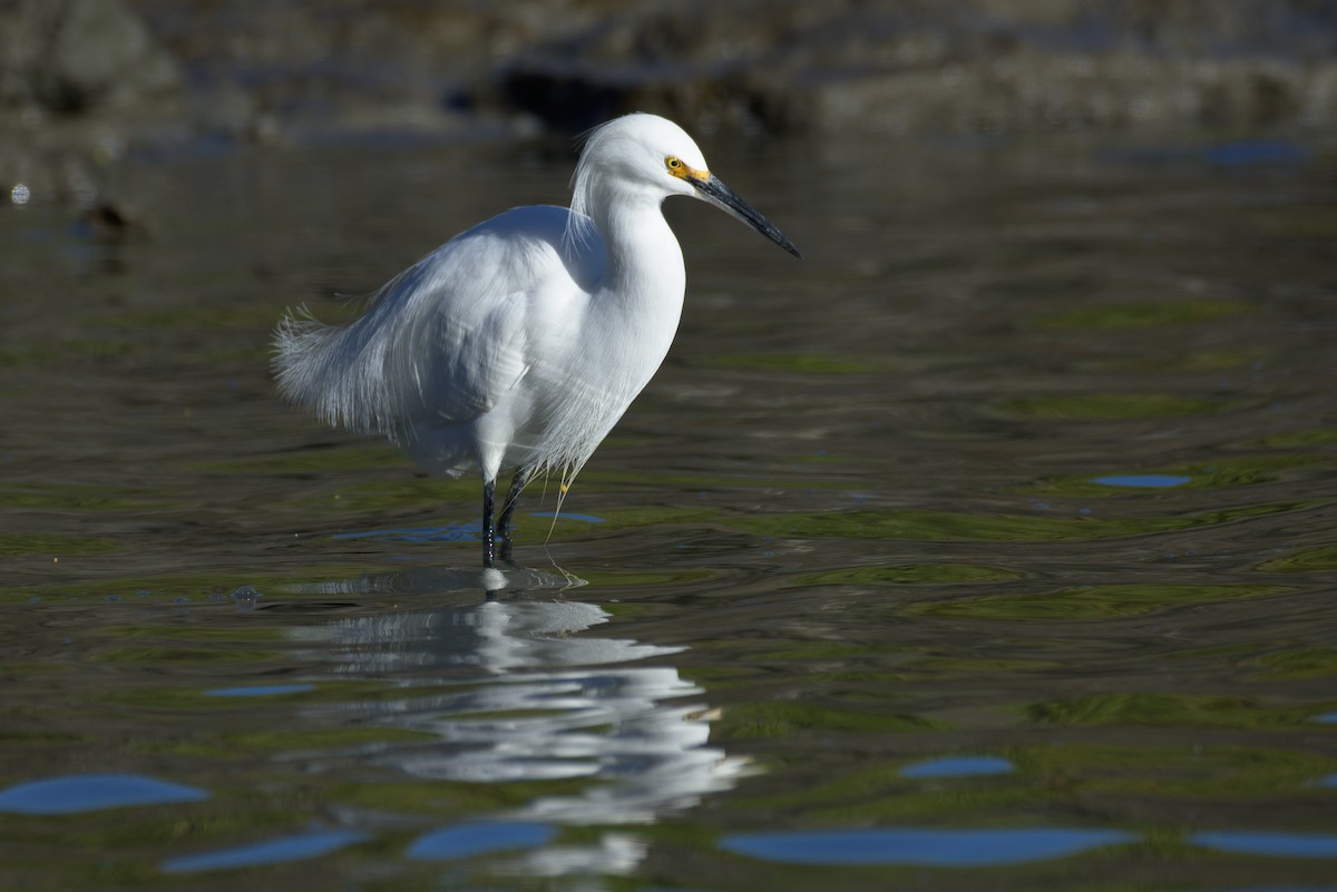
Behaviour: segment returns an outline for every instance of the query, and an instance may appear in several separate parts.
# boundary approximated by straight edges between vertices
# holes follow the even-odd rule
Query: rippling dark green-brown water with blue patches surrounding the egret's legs
[[[677,345],[504,580],[266,341],[564,152],[0,208],[0,885],[1337,888],[1330,147],[703,142],[808,259],[668,206]]]

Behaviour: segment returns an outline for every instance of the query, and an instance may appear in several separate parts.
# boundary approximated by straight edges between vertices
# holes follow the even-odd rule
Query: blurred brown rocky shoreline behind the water
[[[1337,122],[1337,0],[0,0],[0,188],[142,146]],[[84,171],[84,172],[80,172]]]

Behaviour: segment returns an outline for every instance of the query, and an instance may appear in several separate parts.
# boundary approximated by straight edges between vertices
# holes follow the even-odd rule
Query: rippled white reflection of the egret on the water
[[[507,572],[512,582],[541,578],[525,574]],[[457,576],[418,572],[362,585],[421,593],[431,578]],[[610,618],[579,601],[508,596],[480,604],[473,594],[468,604],[342,617],[293,634],[310,648],[313,661],[333,664],[340,676],[388,676],[404,686],[397,697],[314,710],[334,710],[344,720],[353,713],[435,738],[378,745],[358,756],[362,764],[429,780],[594,781],[576,793],[536,799],[511,817],[646,823],[731,788],[746,762],[709,745],[715,713],[686,700],[701,697],[702,689],[673,666],[628,665],[682,649],[588,634]]]

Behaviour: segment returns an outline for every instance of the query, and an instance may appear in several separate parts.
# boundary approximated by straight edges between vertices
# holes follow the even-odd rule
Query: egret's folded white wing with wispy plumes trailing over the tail
[[[563,246],[568,219],[507,211],[388,282],[346,326],[289,318],[275,339],[282,391],[330,423],[390,437],[488,411],[529,370],[536,302],[582,300],[602,275],[602,244],[580,260]]]

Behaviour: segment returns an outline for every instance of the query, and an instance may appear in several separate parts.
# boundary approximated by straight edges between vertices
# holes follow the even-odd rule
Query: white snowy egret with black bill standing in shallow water
[[[285,397],[380,433],[425,470],[483,473],[483,564],[511,545],[525,483],[571,481],[659,369],[682,315],[682,250],[663,200],[723,208],[800,256],[725,186],[687,134],[655,115],[586,140],[571,207],[505,211],[390,279],[345,326],[289,314],[274,338]],[[515,477],[493,525],[496,479]]]

